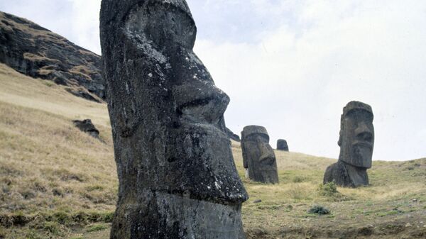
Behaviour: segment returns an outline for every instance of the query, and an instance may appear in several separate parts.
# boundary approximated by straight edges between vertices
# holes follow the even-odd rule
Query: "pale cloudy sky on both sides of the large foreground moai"
[[[426,1],[187,0],[195,52],[231,97],[226,125],[337,158],[340,115],[373,108],[373,160],[426,157]],[[100,0],[0,0],[100,54]]]

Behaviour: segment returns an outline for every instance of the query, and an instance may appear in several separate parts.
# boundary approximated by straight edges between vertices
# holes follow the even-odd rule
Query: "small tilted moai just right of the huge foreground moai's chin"
[[[277,160],[266,128],[246,126],[241,132],[241,149],[246,177],[256,182],[278,184]]]

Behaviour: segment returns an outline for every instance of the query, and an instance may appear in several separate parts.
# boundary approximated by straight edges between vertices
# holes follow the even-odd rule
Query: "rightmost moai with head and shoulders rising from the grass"
[[[335,182],[342,187],[368,185],[367,169],[373,156],[374,127],[371,106],[349,102],[340,123],[339,161],[327,167],[324,184]]]

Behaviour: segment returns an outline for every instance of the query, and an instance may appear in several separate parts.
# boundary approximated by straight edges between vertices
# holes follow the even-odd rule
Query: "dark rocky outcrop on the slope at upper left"
[[[24,18],[0,11],[0,62],[31,77],[66,85],[92,101],[105,98],[101,57]]]

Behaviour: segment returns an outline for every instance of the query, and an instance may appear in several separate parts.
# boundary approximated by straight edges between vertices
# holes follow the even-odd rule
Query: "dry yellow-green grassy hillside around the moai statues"
[[[5,65],[0,86],[0,238],[108,238],[117,179],[107,106]],[[102,140],[72,125],[84,118]],[[233,152],[243,177],[239,143]],[[426,237],[426,159],[375,161],[371,186],[334,191],[320,184],[336,160],[275,155],[280,184],[243,179],[248,238]],[[314,205],[331,213],[308,213]]]

